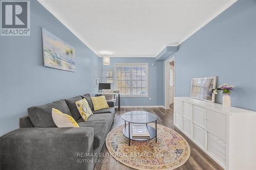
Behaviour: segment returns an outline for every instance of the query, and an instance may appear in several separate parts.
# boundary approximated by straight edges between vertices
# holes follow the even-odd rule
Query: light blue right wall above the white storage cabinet
[[[175,56],[176,96],[190,95],[191,78],[218,76],[218,85],[236,86],[232,106],[256,111],[255,0],[239,0],[183,42]],[[221,94],[216,102],[222,103]]]

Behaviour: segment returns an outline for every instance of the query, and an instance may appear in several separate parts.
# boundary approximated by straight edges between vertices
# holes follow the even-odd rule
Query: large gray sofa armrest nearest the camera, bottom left
[[[0,137],[0,167],[93,169],[93,133],[82,127],[14,130]]]

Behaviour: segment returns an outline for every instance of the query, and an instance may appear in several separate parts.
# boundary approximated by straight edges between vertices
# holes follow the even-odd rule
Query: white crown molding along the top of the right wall
[[[231,5],[233,5],[234,3],[236,3],[238,0],[233,0],[230,3],[228,3],[226,6],[224,6],[222,9],[220,9],[218,12],[216,12],[214,15],[212,15],[208,20],[206,20],[201,26],[199,26],[196,30],[194,30],[193,32],[191,32],[188,36],[186,36],[185,38],[183,38],[178,45],[182,44],[184,41],[186,41],[189,37],[191,37],[192,35],[194,35],[196,32],[198,32],[201,28],[203,28],[204,26],[207,25],[207,23],[209,23],[212,19],[216,18],[218,15],[220,15],[222,12],[224,12],[226,9],[228,9]]]

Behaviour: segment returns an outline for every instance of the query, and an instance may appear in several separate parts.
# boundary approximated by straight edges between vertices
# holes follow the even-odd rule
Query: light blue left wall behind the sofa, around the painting
[[[44,67],[41,27],[75,47],[76,72]],[[31,36],[0,36],[0,136],[18,128],[28,107],[96,92],[93,76],[98,70],[93,66],[98,64],[86,45],[31,1]]]

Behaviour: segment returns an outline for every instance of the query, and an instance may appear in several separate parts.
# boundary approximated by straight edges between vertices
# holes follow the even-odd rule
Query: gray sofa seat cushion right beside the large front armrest
[[[91,117],[91,116],[90,116]],[[91,127],[93,128],[93,149],[99,147],[101,141],[104,141],[104,136],[108,130],[108,123],[106,121],[97,122],[80,122],[79,127]]]

